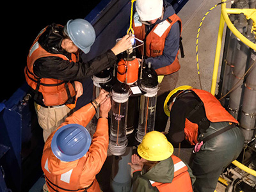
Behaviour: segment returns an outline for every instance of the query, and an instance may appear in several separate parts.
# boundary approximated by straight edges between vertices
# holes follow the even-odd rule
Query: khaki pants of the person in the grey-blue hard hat
[[[44,141],[47,140],[49,135],[55,131],[60,124],[65,121],[68,115],[71,115],[72,111],[67,106],[48,107],[44,108],[38,104],[35,104],[36,114],[38,118],[38,124],[43,131]]]

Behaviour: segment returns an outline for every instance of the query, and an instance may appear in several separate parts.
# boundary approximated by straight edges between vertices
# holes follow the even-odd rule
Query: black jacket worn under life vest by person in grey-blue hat
[[[71,60],[71,54],[61,47],[64,38],[63,27],[57,24],[47,26],[46,31],[38,39],[38,43],[47,52],[63,54]],[[106,68],[112,67],[117,61],[113,51],[108,50],[90,61],[84,62],[81,56],[77,62],[63,60],[58,56],[48,56],[35,61],[33,72],[40,78],[60,79],[62,81],[81,81],[86,77],[98,74]],[[44,106],[42,93],[38,93],[35,102]],[[68,99],[65,104],[74,103],[75,97]]]

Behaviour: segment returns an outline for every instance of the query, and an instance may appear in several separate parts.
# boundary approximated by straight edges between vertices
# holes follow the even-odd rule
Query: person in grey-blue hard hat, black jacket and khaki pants
[[[87,20],[68,20],[65,26],[53,23],[42,29],[29,49],[24,74],[44,141],[72,113],[84,92],[82,79],[112,67],[118,60],[116,55],[131,47],[132,37],[125,35],[112,49],[83,61],[81,55],[90,51],[95,36]]]

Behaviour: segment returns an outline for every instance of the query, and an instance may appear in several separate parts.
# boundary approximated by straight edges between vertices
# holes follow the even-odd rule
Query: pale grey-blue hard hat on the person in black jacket
[[[72,42],[84,53],[90,51],[96,38],[92,24],[84,19],[68,20],[65,32]]]

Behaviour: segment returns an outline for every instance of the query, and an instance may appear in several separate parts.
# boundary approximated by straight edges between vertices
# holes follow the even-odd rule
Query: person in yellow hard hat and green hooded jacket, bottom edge
[[[173,146],[164,134],[148,132],[132,155],[132,191],[192,192],[195,177],[187,164],[173,155]]]

